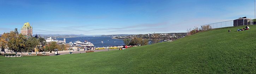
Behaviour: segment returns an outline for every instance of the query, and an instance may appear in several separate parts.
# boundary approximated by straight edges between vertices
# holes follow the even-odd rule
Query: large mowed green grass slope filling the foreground
[[[0,73],[256,73],[256,25],[236,32],[244,27],[214,29],[121,51],[0,56]]]

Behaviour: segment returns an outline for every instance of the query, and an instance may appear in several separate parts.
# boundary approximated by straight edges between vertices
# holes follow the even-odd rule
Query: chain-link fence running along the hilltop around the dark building
[[[239,18],[236,20],[201,25],[201,29],[205,29],[205,28],[214,29],[214,28],[233,27],[233,26],[240,26],[240,25],[251,25],[253,23],[254,22],[252,19]]]

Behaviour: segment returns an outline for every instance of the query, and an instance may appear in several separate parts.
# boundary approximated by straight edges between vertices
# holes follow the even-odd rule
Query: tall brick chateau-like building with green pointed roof
[[[31,36],[33,35],[33,28],[30,26],[29,22],[24,23],[23,27],[20,29],[22,35]]]

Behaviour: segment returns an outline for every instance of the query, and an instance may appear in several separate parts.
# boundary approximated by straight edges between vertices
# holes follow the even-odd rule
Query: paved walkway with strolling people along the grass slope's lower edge
[[[111,51],[111,50],[119,50],[119,49],[109,49],[109,51]],[[73,50],[71,50],[71,51],[73,51]],[[88,50],[88,51],[90,51],[90,50]],[[108,51],[108,49],[91,50],[91,51],[94,51],[94,52],[101,52],[101,51]],[[86,52],[86,51],[81,50],[81,51],[75,51],[75,52],[73,52],[73,54],[75,54],[75,53],[85,53],[85,52]],[[58,53],[58,54],[59,54],[59,55],[69,54],[69,52],[63,52],[63,53]],[[47,55],[54,56],[54,52],[53,52],[53,53],[50,53],[50,54],[47,54]]]

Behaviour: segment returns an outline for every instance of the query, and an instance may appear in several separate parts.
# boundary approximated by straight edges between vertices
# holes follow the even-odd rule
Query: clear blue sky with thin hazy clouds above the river
[[[186,32],[244,16],[254,18],[254,0],[0,0],[0,34],[24,22],[33,34]]]

